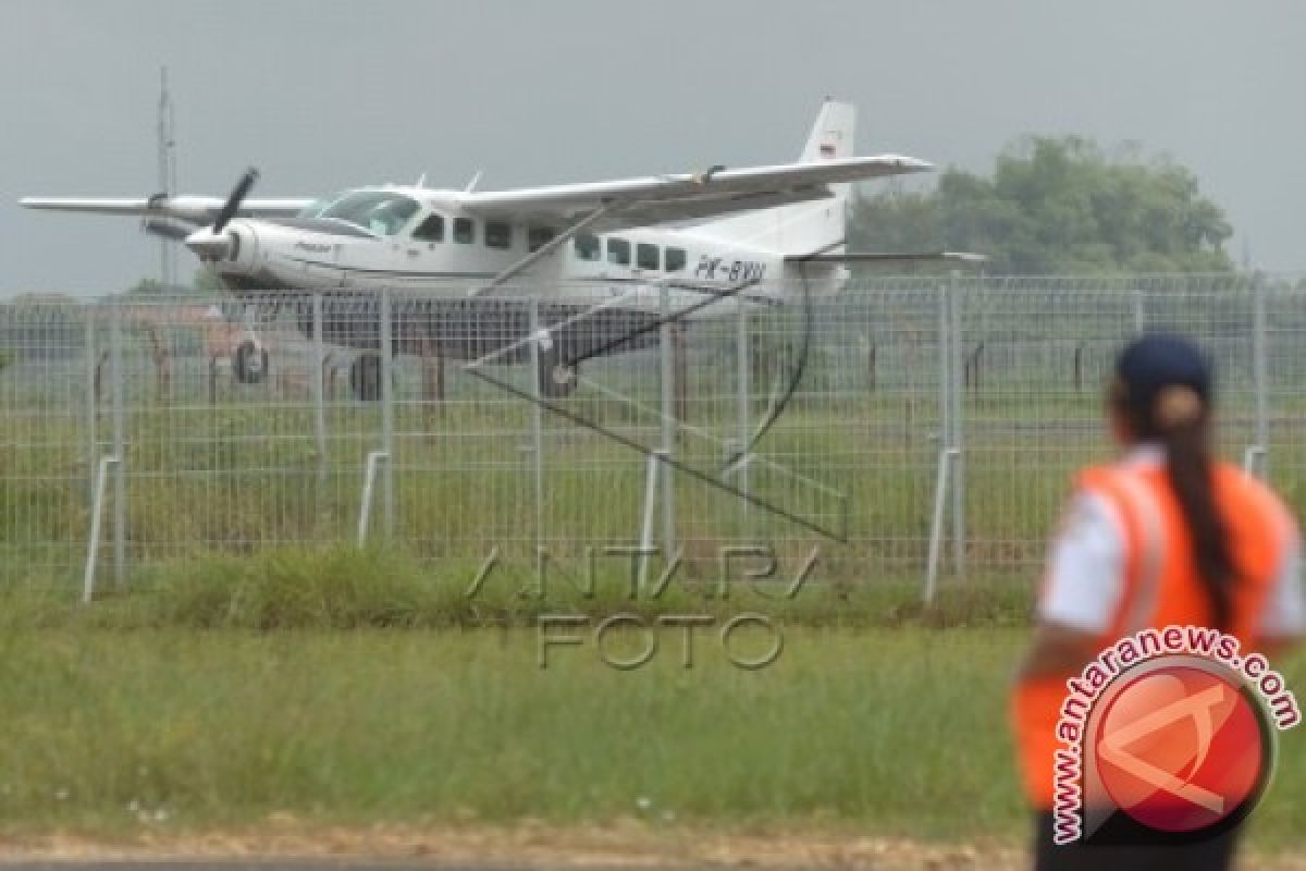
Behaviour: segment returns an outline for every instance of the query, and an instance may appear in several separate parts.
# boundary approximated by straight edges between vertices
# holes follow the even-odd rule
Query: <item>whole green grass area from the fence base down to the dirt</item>
[[[923,612],[913,588],[892,582],[793,599],[737,589],[727,602],[704,585],[631,603],[606,578],[593,598],[502,589],[469,611],[461,578],[432,586],[405,565],[351,548],[215,558],[191,563],[189,582],[89,610],[10,592],[0,834],[131,838],[283,816],[310,828],[636,819],[949,842],[1024,834],[1004,710],[1028,597],[949,586]],[[552,607],[768,610],[785,646],[750,671],[699,629],[686,669],[682,636],[663,631],[646,666],[622,671],[581,629],[541,669],[530,622]],[[605,644],[627,656],[640,640]],[[743,657],[767,642],[743,632],[731,648]],[[1282,666],[1306,686],[1306,657]],[[1255,837],[1297,850],[1302,735],[1281,750]]]

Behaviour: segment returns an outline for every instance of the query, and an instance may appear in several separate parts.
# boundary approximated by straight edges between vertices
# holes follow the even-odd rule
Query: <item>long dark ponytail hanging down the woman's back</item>
[[[1230,631],[1238,569],[1215,500],[1209,409],[1192,388],[1162,388],[1148,409],[1128,407],[1135,432],[1165,445],[1166,477],[1192,542],[1192,563],[1205,585],[1215,628]]]

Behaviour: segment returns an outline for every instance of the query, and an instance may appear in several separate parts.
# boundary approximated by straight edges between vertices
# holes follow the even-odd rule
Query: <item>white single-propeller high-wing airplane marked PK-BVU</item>
[[[539,388],[565,396],[576,362],[657,341],[658,317],[721,316],[746,304],[784,303],[799,282],[832,294],[855,260],[965,255],[850,255],[845,252],[849,184],[932,168],[897,154],[855,157],[855,110],[827,101],[797,163],[696,174],[481,192],[423,187],[366,187],[319,200],[248,198],[249,170],[226,201],[163,196],[135,200],[27,197],[29,209],[141,215],[144,229],[183,242],[238,294],[324,294],[325,341],[364,351],[351,383],[379,390],[380,289],[404,294],[402,330],[441,356],[495,362],[528,359],[532,336],[524,306],[504,304],[513,278],[529,270],[547,308],[539,342]],[[363,302],[360,308],[359,302]],[[300,311],[300,315],[304,312]],[[312,320],[300,317],[311,333]],[[629,337],[629,341],[622,341]],[[372,359],[367,359],[371,356]],[[256,338],[238,350],[244,381],[266,372]]]

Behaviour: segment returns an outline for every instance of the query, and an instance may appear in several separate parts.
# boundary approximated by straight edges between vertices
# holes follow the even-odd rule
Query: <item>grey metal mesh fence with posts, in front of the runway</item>
[[[1074,470],[1109,453],[1102,387],[1141,329],[1208,349],[1222,449],[1306,507],[1297,278],[913,277],[688,321],[551,294],[0,304],[0,581],[364,538],[1028,577]]]

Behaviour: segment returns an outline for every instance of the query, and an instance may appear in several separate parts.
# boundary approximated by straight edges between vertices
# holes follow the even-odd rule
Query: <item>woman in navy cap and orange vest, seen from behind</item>
[[[1123,457],[1079,478],[1013,696],[1021,773],[1037,815],[1036,867],[1228,868],[1235,828],[1179,846],[1053,842],[1053,753],[1066,680],[1098,652],[1149,627],[1204,626],[1235,636],[1243,650],[1273,656],[1306,631],[1292,516],[1263,484],[1211,457],[1204,355],[1173,336],[1132,342],[1117,359],[1107,417]]]

